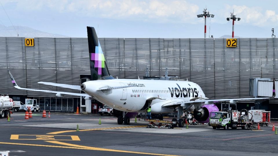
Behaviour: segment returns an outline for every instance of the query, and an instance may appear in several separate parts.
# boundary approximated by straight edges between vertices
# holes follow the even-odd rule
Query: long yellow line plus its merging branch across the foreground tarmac
[[[62,144],[62,145],[68,145],[67,143],[58,142],[58,141],[46,141],[46,142]],[[56,147],[56,148],[72,148],[72,149],[82,149],[82,150],[110,151],[110,152],[123,152],[123,153],[136,153],[136,154],[148,154],[148,155],[162,155],[162,156],[177,156],[177,155],[166,155],[166,154],[156,154],[156,153],[143,153],[143,152],[113,150],[113,149],[96,148],[96,147],[88,147],[88,146],[83,146],[82,147],[80,145],[75,145],[75,144],[70,144],[70,146],[54,146],[54,145],[40,145],[40,144],[21,144],[21,143],[13,143],[13,142],[0,142],[0,144],[41,146],[41,147]],[[86,147],[86,148],[84,148],[84,147]]]

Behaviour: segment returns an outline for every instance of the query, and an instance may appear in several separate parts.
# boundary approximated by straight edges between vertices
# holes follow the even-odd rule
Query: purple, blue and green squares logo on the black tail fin
[[[98,42],[98,46],[96,46],[96,52],[91,53],[91,60],[95,61],[95,68],[98,68],[98,75],[101,75],[102,68],[105,67],[105,59],[100,47],[100,43]]]

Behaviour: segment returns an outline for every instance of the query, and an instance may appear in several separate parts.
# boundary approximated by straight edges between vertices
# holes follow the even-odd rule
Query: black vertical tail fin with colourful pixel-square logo
[[[91,80],[114,79],[107,68],[94,27],[87,27]]]

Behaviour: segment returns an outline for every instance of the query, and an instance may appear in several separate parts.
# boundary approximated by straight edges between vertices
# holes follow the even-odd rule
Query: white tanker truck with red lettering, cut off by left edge
[[[10,109],[14,105],[14,101],[9,96],[0,96],[0,118],[7,118],[10,116]]]

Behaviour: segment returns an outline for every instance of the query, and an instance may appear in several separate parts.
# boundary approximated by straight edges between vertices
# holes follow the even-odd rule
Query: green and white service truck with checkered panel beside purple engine
[[[216,128],[228,128],[237,129],[241,127],[242,129],[249,129],[253,126],[252,115],[249,117],[248,111],[246,109],[240,112],[236,110],[229,110],[228,112],[211,112],[209,117],[209,125]]]

